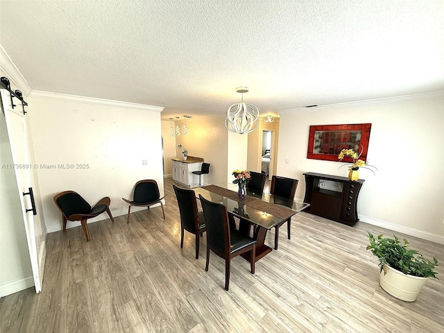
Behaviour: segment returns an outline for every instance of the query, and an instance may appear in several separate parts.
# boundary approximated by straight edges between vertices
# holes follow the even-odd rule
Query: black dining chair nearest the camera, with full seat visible
[[[205,223],[207,225],[207,263],[210,264],[210,250],[225,259],[225,290],[230,285],[230,262],[233,257],[241,253],[250,253],[250,271],[255,273],[256,241],[241,234],[238,230],[230,230],[227,206],[221,203],[212,203],[199,194],[202,204]]]

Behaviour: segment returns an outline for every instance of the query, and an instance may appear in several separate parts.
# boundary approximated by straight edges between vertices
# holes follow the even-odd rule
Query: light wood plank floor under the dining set
[[[0,332],[444,332],[444,246],[407,237],[412,248],[435,256],[441,280],[427,282],[416,302],[379,287],[366,230],[300,213],[292,239],[280,228],[279,250],[260,259],[256,273],[232,260],[230,291],[224,264],[210,257],[205,235],[199,259],[194,235],[180,221],[171,178],[166,219],[160,207],[48,235],[43,290],[26,289],[0,300]],[[267,241],[273,245],[274,231]]]

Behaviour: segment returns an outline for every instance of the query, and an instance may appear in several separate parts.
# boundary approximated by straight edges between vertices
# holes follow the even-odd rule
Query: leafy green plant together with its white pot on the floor
[[[431,262],[417,250],[408,249],[407,239],[404,238],[402,244],[394,235],[394,239],[384,238],[382,234],[375,238],[370,232],[367,232],[367,236],[370,245],[366,249],[379,259],[379,284],[391,296],[413,302],[425,282],[436,278],[436,258]]]

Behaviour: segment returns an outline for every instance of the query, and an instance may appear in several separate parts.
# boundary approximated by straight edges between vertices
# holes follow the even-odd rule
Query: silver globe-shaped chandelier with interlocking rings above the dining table
[[[244,93],[248,92],[248,87],[237,87],[236,92],[242,94],[241,103],[234,103],[228,108],[225,127],[239,134],[253,132],[259,124],[259,110],[253,104],[244,103]]]

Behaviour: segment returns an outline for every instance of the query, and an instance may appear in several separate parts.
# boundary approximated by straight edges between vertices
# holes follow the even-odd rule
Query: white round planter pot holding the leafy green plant
[[[386,266],[386,272],[387,273],[384,275],[384,270],[382,270],[379,274],[379,284],[382,289],[391,296],[406,302],[413,302],[416,300],[422,286],[430,279],[407,275],[390,266]]]

